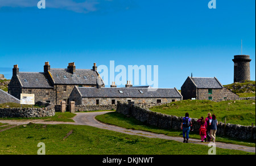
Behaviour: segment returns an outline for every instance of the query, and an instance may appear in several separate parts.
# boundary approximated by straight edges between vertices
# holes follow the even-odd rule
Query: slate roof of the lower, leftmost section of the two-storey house
[[[41,72],[19,72],[17,75],[24,88],[53,88],[46,75]],[[27,80],[27,82],[25,81]]]

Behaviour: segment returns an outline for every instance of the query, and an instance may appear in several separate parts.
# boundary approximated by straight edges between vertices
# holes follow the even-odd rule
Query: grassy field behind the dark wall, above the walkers
[[[254,104],[253,104],[254,103]],[[207,117],[208,112],[216,114],[218,122],[255,125],[255,100],[235,100],[214,102],[210,100],[182,100],[156,107],[150,110],[174,116],[185,116],[200,118]]]

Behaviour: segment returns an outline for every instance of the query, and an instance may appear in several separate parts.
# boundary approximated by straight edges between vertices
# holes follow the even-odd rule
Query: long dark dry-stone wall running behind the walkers
[[[157,126],[163,129],[175,129],[181,130],[181,121],[183,117],[177,117],[167,114],[162,114],[158,112],[153,112],[149,109],[143,109],[137,105],[118,103],[117,110],[118,113],[129,115],[135,119],[144,122],[147,125]],[[199,133],[200,125],[196,122],[197,118],[191,118],[193,131]],[[238,139],[253,139],[255,140],[255,126],[242,126],[233,124],[224,124],[219,122],[217,126],[216,135],[225,135],[232,138]]]

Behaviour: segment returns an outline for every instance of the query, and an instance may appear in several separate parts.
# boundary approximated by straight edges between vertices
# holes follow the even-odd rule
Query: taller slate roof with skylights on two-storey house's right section
[[[96,84],[96,78],[98,76],[96,71],[90,69],[76,69],[76,72],[72,74],[69,69],[53,68],[49,73],[51,73],[55,84]],[[64,78],[64,75],[67,76],[67,78]],[[87,79],[85,79],[84,76],[86,76]]]

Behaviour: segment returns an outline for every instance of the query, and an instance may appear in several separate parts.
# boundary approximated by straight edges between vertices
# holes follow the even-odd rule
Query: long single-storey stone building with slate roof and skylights
[[[76,105],[117,105],[117,101],[132,101],[135,104],[171,103],[180,101],[183,97],[176,88],[151,88],[147,86],[117,88],[114,84],[111,87],[78,87],[75,86],[70,101]]]

